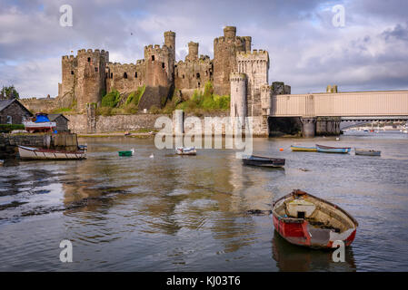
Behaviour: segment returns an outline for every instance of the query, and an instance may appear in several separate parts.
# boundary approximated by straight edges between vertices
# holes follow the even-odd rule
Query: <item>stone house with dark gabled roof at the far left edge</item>
[[[17,99],[0,100],[0,124],[22,124],[33,117]]]

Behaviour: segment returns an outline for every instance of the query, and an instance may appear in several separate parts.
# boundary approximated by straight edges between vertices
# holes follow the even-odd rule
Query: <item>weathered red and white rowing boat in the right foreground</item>
[[[358,227],[342,208],[299,189],[274,202],[273,216],[279,235],[305,247],[330,248],[338,240],[350,246]]]

